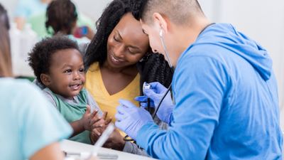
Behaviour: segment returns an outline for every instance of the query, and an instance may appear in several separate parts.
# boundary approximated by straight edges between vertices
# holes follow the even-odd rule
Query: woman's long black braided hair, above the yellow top
[[[104,9],[102,16],[96,22],[97,34],[87,48],[84,56],[86,68],[94,62],[99,62],[102,66],[107,59],[107,39],[114,27],[119,23],[122,16],[131,12],[136,13],[138,6],[130,0],[114,0]],[[137,63],[138,71],[141,75],[140,90],[143,82],[160,82],[168,87],[172,81],[173,73],[163,55],[151,52],[149,46],[147,56]],[[142,90],[141,90],[142,94]]]

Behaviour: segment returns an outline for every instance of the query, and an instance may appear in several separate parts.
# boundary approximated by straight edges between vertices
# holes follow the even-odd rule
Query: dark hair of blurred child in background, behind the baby
[[[55,0],[48,5],[46,11],[45,28],[50,33],[50,27],[53,28],[53,34],[64,31],[71,34],[72,24],[77,21],[78,15],[75,4],[70,0]]]

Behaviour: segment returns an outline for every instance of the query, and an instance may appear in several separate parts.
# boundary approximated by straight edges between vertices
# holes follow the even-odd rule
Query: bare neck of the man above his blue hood
[[[189,26],[174,26],[176,53],[179,55],[194,43],[203,29],[210,24],[206,17],[199,17],[191,22]]]

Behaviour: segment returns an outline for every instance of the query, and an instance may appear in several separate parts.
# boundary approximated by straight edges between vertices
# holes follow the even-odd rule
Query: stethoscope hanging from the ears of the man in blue
[[[173,64],[171,63],[170,61],[170,56],[168,54],[168,49],[166,48],[165,46],[165,41],[164,41],[164,38],[163,38],[163,30],[160,29],[160,33],[159,33],[159,37],[160,37],[160,42],[162,43],[162,46],[163,46],[163,50],[165,51],[165,57],[167,58],[168,60],[168,64],[170,66],[170,70],[172,73],[174,73],[174,68],[173,68]],[[144,83],[145,84],[145,83]],[[163,100],[165,99],[165,96],[168,95],[168,92],[170,92],[170,88],[172,87],[172,82],[170,82],[170,86],[168,87],[168,89],[166,90],[166,92],[164,93],[162,99],[160,99],[160,102],[158,103],[158,106],[157,106],[157,109],[155,110],[155,112],[152,114],[152,118],[155,119],[155,116],[157,115],[157,112],[160,108],[160,105],[162,104]],[[143,88],[144,88],[144,85],[143,85]],[[150,107],[150,100],[148,100],[148,107]],[[131,139],[131,137],[129,137],[129,135],[126,135],[124,137],[124,141],[125,142],[132,142],[134,141],[134,139]]]

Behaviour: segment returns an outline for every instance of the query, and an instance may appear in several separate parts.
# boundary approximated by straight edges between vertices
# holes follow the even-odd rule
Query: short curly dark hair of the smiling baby
[[[79,51],[77,43],[66,36],[44,38],[35,44],[31,53],[28,53],[28,65],[33,68],[33,73],[38,82],[43,84],[40,80],[40,75],[42,73],[49,73],[53,53],[64,49],[76,49]]]

